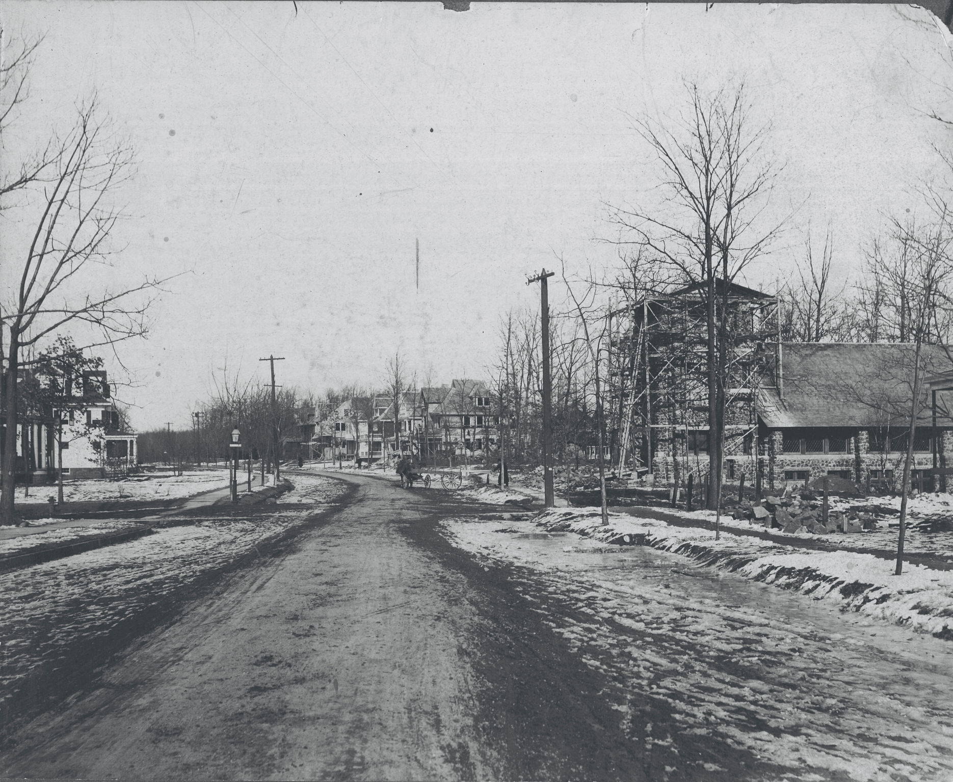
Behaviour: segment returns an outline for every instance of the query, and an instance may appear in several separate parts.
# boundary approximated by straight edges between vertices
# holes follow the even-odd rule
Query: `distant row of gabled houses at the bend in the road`
[[[395,410],[396,408],[396,410]],[[385,394],[355,396],[320,414],[302,411],[300,432],[286,440],[286,455],[375,461],[410,455],[428,464],[453,465],[495,458],[500,445],[495,397],[480,380]]]

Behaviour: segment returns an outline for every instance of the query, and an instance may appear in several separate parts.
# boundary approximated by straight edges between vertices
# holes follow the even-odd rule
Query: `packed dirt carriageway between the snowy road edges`
[[[347,480],[294,551],[19,732],[3,775],[633,778],[598,682],[499,573],[440,551],[435,492]]]

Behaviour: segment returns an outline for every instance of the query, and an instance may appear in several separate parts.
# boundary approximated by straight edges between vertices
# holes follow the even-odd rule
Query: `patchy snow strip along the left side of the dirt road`
[[[274,512],[249,509],[248,517],[210,518],[0,573],[6,595],[0,708],[22,691],[31,673],[69,667],[71,660],[98,653],[110,639],[132,637],[138,623],[172,610],[191,586],[293,530],[346,491],[319,476],[295,475],[294,484],[285,495],[294,504],[273,506]]]

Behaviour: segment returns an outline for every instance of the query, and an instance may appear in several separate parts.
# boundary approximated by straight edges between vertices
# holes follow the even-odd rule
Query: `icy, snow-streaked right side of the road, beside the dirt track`
[[[465,551],[517,566],[659,779],[718,775],[731,749],[774,767],[736,778],[953,778],[948,642],[665,551],[529,520],[446,526]]]

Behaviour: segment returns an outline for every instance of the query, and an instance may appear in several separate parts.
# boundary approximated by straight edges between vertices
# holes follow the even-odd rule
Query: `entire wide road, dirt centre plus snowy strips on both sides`
[[[104,668],[58,680],[73,694],[9,736],[0,776],[953,778],[949,642],[359,474],[227,571],[328,499],[289,472],[254,518],[9,574],[8,684]]]

